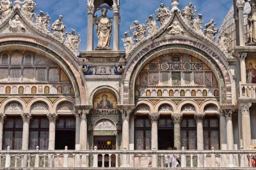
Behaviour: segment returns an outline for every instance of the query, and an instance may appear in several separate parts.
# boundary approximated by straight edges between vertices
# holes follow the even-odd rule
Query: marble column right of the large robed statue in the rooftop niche
[[[118,51],[119,50],[119,10],[120,6],[113,5],[113,29],[114,29],[114,34],[113,34],[113,50]]]

